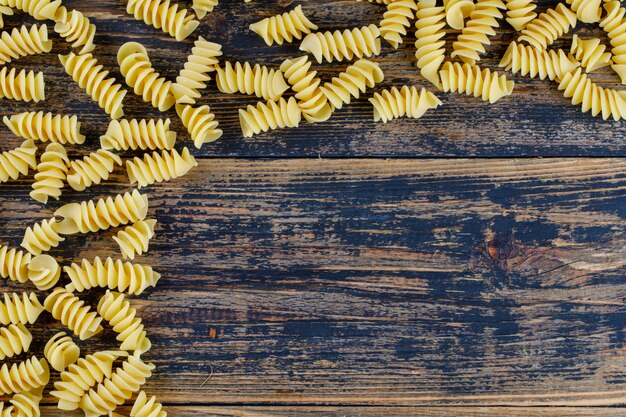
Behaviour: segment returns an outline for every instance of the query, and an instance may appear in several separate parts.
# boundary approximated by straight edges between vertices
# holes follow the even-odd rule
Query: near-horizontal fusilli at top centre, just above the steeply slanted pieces
[[[315,32],[308,34],[300,50],[312,54],[318,63],[352,60],[380,53],[380,31],[376,25],[346,29],[343,32]]]

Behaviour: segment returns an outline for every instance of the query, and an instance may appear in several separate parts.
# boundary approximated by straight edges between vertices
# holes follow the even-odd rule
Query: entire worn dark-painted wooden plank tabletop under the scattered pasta
[[[226,59],[277,66],[300,55],[297,45],[266,47],[250,23],[300,3],[322,30],[377,23],[384,10],[220,3],[177,43],[133,20],[124,1],[66,2],[96,24],[95,55],[120,80],[115,54],[130,40],[169,77],[197,34],[224,45]],[[7,27],[24,22],[33,20],[14,16]],[[604,36],[589,25],[576,32]],[[3,101],[1,113],[78,114],[88,141],[71,148],[77,157],[97,149],[109,119],[65,75],[56,54],[69,46],[51,35],[52,54],[16,64],[45,72],[48,101]],[[503,27],[484,65],[495,68],[515,36]],[[376,58],[386,74],[378,90],[427,85],[413,34],[406,40]],[[319,68],[328,79],[346,65]],[[495,105],[441,93],[444,105],[421,120],[382,125],[370,92],[327,123],[251,140],[237,109],[256,100],[212,84],[200,103],[223,138],[194,150],[200,165],[188,176],[147,190],[159,225],[140,262],[163,278],[134,300],[157,366],[146,391],[183,417],[623,416],[626,124],[580,113],[547,81],[512,78],[513,96]],[[594,79],[615,80],[602,70]],[[126,114],[162,117],[132,95]],[[6,128],[0,135],[2,150],[20,143]],[[29,199],[31,183],[0,186],[2,244],[19,245],[26,225],[61,204],[132,189],[119,169],[44,207]],[[116,256],[113,233],[52,253],[64,264]],[[6,283],[15,289],[24,287]],[[61,326],[46,313],[34,328],[41,354]],[[113,337],[81,347],[112,349]],[[49,395],[44,403],[44,415],[68,415]]]

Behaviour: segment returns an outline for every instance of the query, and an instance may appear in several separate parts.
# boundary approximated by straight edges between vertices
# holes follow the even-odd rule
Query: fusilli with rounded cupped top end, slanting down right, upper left
[[[125,43],[117,53],[120,71],[126,84],[134,89],[143,101],[151,103],[160,111],[169,110],[176,99],[172,95],[172,82],[152,68],[146,48],[137,42]]]

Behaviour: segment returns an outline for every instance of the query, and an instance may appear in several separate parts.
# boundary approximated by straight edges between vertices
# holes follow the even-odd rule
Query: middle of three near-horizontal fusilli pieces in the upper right
[[[573,56],[565,55],[562,49],[558,52],[541,51],[530,45],[511,42],[499,66],[532,78],[538,76],[542,80],[560,81],[563,75],[574,71],[580,63]]]

